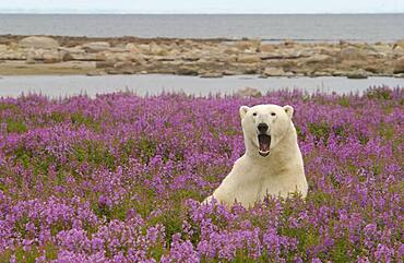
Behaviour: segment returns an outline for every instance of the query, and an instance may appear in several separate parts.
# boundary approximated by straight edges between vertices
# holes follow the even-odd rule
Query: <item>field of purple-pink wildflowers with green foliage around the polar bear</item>
[[[238,108],[293,105],[309,193],[200,205]],[[404,89],[0,99],[0,262],[402,262]]]

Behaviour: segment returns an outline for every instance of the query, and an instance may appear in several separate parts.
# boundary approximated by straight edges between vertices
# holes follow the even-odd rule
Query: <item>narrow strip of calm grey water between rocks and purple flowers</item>
[[[206,96],[210,94],[233,95],[239,88],[254,87],[265,94],[282,88],[299,88],[308,93],[348,94],[363,93],[370,86],[388,85],[404,87],[404,79],[369,77],[366,80],[348,80],[346,77],[269,77],[226,76],[222,79],[201,79],[198,76],[178,76],[163,74],[147,75],[38,75],[38,76],[4,76],[0,79],[0,97],[17,97],[21,94],[43,94],[51,98],[87,94],[131,91],[140,96],[158,95],[163,92],[185,93],[188,95]]]

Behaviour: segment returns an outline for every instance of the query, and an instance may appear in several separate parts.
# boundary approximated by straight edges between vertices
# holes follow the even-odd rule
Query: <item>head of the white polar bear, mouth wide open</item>
[[[245,134],[246,151],[266,157],[282,141],[283,136],[294,128],[292,106],[257,105],[241,106],[240,117]]]

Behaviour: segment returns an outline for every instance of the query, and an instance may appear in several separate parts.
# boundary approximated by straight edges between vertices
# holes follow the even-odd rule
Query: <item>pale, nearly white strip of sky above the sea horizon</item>
[[[404,0],[0,0],[24,13],[404,13]]]

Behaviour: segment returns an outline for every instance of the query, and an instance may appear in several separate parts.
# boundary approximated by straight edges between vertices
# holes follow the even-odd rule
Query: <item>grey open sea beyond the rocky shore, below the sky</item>
[[[395,41],[404,14],[0,14],[0,34]]]

